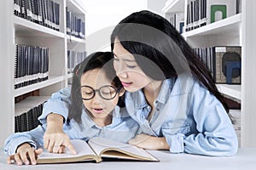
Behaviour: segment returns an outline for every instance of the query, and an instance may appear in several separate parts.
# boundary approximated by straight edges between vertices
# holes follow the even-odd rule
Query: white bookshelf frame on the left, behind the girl
[[[39,91],[40,96],[49,96],[58,89],[65,88],[72,74],[68,73],[67,50],[84,52],[85,39],[67,34],[66,9],[85,22],[85,9],[76,0],[52,0],[60,5],[60,30],[56,31],[16,16],[14,14],[14,1],[1,1],[4,10],[1,11],[1,110],[0,123],[6,130],[0,131],[0,144],[10,133],[15,132],[15,98],[21,95]],[[3,41],[4,40],[4,41]],[[26,44],[49,48],[49,78],[43,82],[33,83],[22,88],[15,88],[15,44]],[[1,82],[2,82],[1,81]],[[23,101],[24,102],[24,101]]]

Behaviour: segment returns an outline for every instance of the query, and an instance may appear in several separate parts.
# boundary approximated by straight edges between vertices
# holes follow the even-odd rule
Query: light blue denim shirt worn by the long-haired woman
[[[219,100],[189,75],[162,83],[154,115],[143,91],[125,94],[126,109],[142,133],[166,137],[172,153],[232,156],[238,149],[236,131]]]

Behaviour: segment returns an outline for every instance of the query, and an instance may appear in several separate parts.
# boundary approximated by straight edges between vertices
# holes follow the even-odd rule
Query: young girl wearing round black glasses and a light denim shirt
[[[121,104],[119,97],[125,90],[115,76],[112,59],[110,52],[91,54],[75,67],[71,94],[67,88],[61,90],[63,95],[71,95],[67,122],[63,126],[66,133],[63,140],[87,141],[102,136],[128,142],[136,135],[137,122],[127,115],[124,107],[117,105],[118,102]],[[18,165],[36,164],[36,157],[42,152],[39,148],[43,144],[49,152],[61,153],[64,150],[61,144],[49,144],[52,140],[43,139],[45,129],[46,123],[43,122],[42,126],[32,131],[10,135],[4,145],[5,152],[9,154],[8,163],[14,160]],[[72,144],[67,142],[64,145],[75,154]]]

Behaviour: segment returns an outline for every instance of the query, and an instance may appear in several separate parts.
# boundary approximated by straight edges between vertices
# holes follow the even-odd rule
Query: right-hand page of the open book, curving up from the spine
[[[131,157],[134,157],[133,159],[135,160],[158,161],[156,158],[154,158],[154,156],[150,155],[146,150],[143,150],[131,144],[119,143],[110,139],[104,139],[100,137],[92,138],[89,140],[88,143],[90,144],[91,148],[93,148],[93,150],[96,152],[98,156],[102,154],[102,156],[108,156],[108,157],[119,157],[119,158],[127,158],[127,159],[131,159]],[[117,151],[123,154],[120,154]],[[109,155],[108,155],[108,152],[109,152]],[[124,154],[128,156],[124,156]]]

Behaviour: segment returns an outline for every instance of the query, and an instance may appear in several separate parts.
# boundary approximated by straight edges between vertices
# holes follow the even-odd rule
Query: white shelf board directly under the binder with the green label
[[[241,14],[233,15],[224,20],[218,20],[207,26],[183,33],[183,37],[233,35],[237,36],[241,30]],[[235,34],[235,35],[234,35]]]

